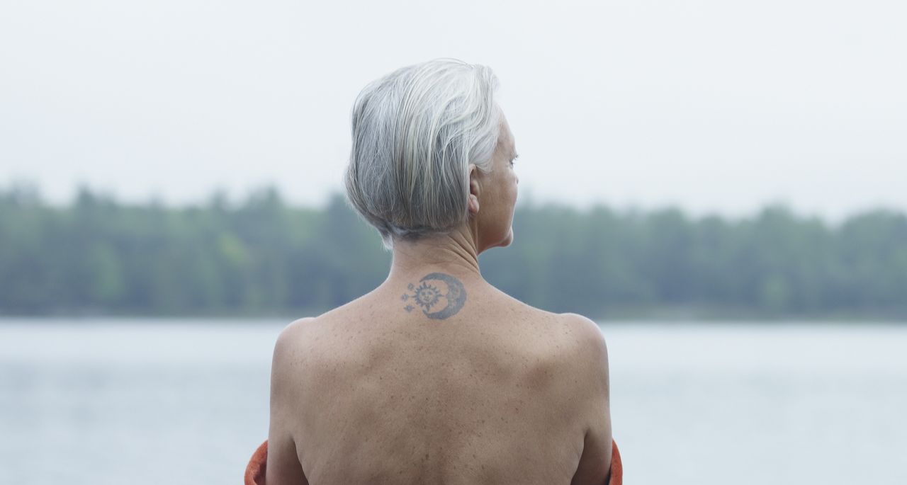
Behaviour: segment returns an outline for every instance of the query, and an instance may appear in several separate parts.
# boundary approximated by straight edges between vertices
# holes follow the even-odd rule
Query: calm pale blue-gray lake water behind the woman
[[[0,320],[0,483],[241,483],[287,323]],[[907,483],[907,324],[601,328],[629,484]]]

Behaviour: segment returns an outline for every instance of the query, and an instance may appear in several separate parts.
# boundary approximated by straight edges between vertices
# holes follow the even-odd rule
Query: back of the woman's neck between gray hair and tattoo
[[[388,282],[411,281],[414,276],[423,276],[423,273],[431,271],[481,278],[478,244],[473,231],[464,226],[441,236],[394,241],[394,258]]]

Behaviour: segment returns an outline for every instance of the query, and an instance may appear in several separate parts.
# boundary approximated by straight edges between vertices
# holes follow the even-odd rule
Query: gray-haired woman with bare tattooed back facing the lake
[[[528,306],[479,270],[479,254],[512,242],[519,181],[496,83],[487,67],[441,59],[359,94],[346,193],[393,251],[390,274],[278,336],[268,441],[249,483],[601,484],[620,473],[599,327]]]

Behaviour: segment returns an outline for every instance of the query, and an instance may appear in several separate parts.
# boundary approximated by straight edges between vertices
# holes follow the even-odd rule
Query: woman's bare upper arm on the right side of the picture
[[[601,485],[609,480],[611,465],[610,382],[608,346],[599,325],[582,315],[568,314],[578,353],[575,372],[580,376],[577,395],[586,426],[580,463],[571,485]]]

